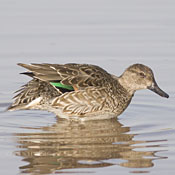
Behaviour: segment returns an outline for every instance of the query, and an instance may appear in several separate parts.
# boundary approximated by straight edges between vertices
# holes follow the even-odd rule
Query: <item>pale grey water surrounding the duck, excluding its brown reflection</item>
[[[138,91],[119,122],[129,127],[125,134],[134,135],[133,150],[154,152],[152,165],[127,167],[121,166],[126,160],[104,157],[101,162],[111,166],[92,168],[99,160],[82,158],[80,163],[90,164],[88,168],[52,167],[50,174],[174,174],[174,57],[174,0],[0,0],[0,174],[37,174],[34,169],[24,171],[30,161],[16,153],[27,149],[19,140],[22,133],[30,140],[30,133],[57,123],[54,114],[43,111],[4,112],[13,92],[30,80],[19,75],[24,71],[19,62],[90,63],[115,75],[133,63],[150,66],[170,98]]]

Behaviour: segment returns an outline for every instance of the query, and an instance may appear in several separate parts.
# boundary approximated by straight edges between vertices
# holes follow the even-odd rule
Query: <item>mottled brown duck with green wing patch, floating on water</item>
[[[14,97],[9,111],[40,109],[68,119],[104,119],[120,115],[136,90],[150,89],[162,97],[152,70],[143,64],[128,67],[120,77],[89,64],[21,64],[33,79]]]

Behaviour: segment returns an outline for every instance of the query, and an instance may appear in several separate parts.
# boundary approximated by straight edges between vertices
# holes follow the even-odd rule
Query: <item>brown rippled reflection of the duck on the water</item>
[[[20,149],[15,154],[28,162],[20,167],[22,173],[49,174],[62,169],[114,164],[145,168],[152,167],[152,160],[159,158],[155,151],[135,151],[138,146],[134,144],[144,141],[134,141],[134,135],[128,134],[130,128],[116,119],[86,123],[59,120],[39,130],[39,133],[16,134]]]

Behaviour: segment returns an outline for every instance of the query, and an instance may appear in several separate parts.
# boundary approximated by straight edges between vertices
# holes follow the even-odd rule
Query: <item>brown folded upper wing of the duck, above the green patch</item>
[[[76,86],[77,90],[89,86],[108,86],[112,76],[104,69],[89,64],[22,64],[28,74],[42,81],[61,82],[64,85]],[[74,88],[75,89],[75,88]]]

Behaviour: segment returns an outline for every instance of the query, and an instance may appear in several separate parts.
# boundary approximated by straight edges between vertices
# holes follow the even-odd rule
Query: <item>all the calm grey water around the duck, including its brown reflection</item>
[[[0,174],[174,174],[175,2],[1,0]],[[120,75],[150,66],[169,99],[145,90],[118,119],[6,112],[30,78],[16,63],[92,63]]]

